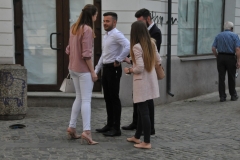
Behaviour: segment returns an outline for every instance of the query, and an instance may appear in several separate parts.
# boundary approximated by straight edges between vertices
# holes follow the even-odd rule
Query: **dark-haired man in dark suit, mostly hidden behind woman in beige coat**
[[[135,17],[138,21],[143,21],[147,25],[147,29],[150,33],[150,36],[155,39],[156,46],[158,49],[158,52],[160,51],[161,43],[162,43],[162,33],[161,30],[156,26],[156,24],[151,19],[151,13],[148,9],[140,9],[135,13]],[[128,63],[129,60],[126,58]],[[155,134],[155,127],[154,127],[154,103],[152,99],[149,99],[148,101],[148,107],[150,112],[150,120],[151,120],[151,135]],[[123,130],[134,130],[137,127],[137,120],[138,120],[138,114],[137,114],[137,105],[133,104],[133,121],[128,126],[123,126]]]

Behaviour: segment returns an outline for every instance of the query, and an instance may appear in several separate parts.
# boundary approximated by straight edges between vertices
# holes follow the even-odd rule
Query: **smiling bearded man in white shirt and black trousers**
[[[107,12],[103,16],[106,33],[103,37],[102,55],[95,67],[95,72],[98,74],[100,69],[103,68],[102,85],[106,102],[107,125],[101,129],[96,129],[96,131],[103,133],[105,136],[120,136],[122,112],[119,99],[120,79],[122,76],[121,62],[130,52],[130,42],[116,29],[116,13]]]

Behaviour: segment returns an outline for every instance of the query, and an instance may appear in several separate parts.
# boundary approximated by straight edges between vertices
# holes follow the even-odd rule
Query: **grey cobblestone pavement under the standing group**
[[[240,88],[237,91],[240,95]],[[151,137],[150,150],[136,149],[126,141],[134,131],[122,130],[122,136],[114,138],[96,133],[106,122],[105,108],[92,109],[93,138],[99,144],[89,146],[81,145],[81,139],[67,140],[71,108],[30,106],[25,119],[0,121],[0,160],[238,160],[240,99],[229,99],[219,102],[215,92],[156,106],[156,135]],[[132,107],[123,107],[122,125],[129,124],[131,118]],[[9,129],[17,123],[27,127]],[[79,133],[81,123],[79,118]]]

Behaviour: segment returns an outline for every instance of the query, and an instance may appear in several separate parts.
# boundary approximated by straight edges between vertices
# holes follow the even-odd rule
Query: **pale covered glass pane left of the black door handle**
[[[57,53],[49,47],[49,35],[56,32],[56,1],[23,0],[22,10],[28,84],[57,84]]]

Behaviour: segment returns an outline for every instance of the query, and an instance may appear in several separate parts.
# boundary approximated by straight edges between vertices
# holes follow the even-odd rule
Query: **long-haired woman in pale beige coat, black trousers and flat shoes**
[[[157,52],[145,23],[136,21],[131,28],[130,55],[133,61],[132,68],[124,68],[126,74],[133,74],[133,102],[138,105],[138,126],[133,137],[127,141],[136,143],[136,148],[151,148],[151,124],[147,100],[159,97],[158,79],[155,64],[160,64],[161,58]],[[144,142],[140,137],[144,132]]]

